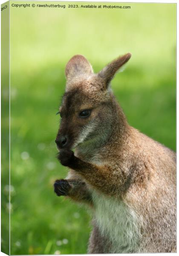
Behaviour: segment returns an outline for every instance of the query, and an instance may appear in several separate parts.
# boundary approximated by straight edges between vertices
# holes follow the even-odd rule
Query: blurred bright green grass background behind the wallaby
[[[11,254],[87,251],[90,214],[53,192],[54,180],[67,173],[55,158],[55,113],[73,55],[85,55],[98,72],[131,52],[125,71],[112,82],[118,102],[130,125],[176,148],[176,4],[124,4],[131,9],[65,4],[66,9],[11,7]],[[7,175],[6,166],[2,181]]]

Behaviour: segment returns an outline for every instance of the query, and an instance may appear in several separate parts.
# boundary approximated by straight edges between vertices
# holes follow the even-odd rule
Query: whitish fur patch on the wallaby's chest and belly
[[[95,219],[104,236],[112,243],[110,253],[139,251],[139,221],[136,213],[122,201],[92,192]]]

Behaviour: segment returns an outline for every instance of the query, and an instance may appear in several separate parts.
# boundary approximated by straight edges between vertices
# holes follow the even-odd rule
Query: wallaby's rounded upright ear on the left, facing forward
[[[66,65],[65,76],[67,80],[80,74],[92,74],[92,66],[83,55],[73,56]]]

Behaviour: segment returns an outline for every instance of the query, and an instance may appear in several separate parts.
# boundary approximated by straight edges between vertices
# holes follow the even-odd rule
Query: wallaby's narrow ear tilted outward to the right
[[[115,73],[130,59],[130,57],[130,53],[120,56],[116,58],[114,61],[112,61],[110,64],[108,64],[106,67],[104,67],[98,73],[98,76],[104,79],[106,83],[106,89],[109,86],[110,81],[113,79]]]

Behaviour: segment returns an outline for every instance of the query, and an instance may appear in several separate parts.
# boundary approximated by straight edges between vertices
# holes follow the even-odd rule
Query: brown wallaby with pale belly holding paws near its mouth
[[[128,124],[110,87],[130,57],[97,74],[82,55],[66,65],[55,142],[70,171],[54,188],[92,209],[88,253],[176,252],[176,154]]]

